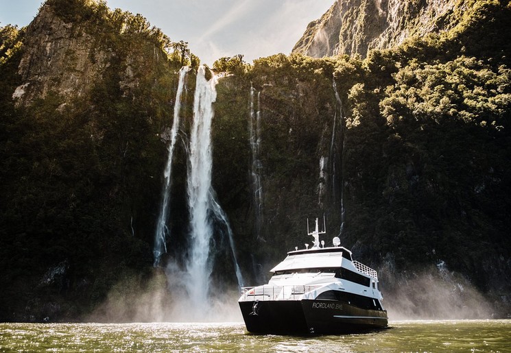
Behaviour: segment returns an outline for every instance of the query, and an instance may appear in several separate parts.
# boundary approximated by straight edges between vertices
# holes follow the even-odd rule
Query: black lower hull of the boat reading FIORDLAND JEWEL
[[[387,311],[357,308],[335,300],[239,302],[248,332],[342,334],[385,328]]]

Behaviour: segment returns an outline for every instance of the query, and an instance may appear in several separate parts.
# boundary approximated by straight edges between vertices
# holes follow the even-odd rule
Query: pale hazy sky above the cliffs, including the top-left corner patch
[[[107,0],[141,14],[171,40],[185,40],[201,62],[243,54],[246,62],[291,53],[309,22],[335,0]],[[43,0],[0,0],[0,26],[23,27]]]

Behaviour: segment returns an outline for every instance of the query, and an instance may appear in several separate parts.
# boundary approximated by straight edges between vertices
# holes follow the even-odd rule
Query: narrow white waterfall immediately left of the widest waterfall
[[[171,170],[172,170],[172,156],[174,156],[174,146],[176,145],[176,136],[179,129],[179,112],[181,108],[181,95],[183,88],[185,87],[185,77],[189,71],[188,66],[183,66],[179,71],[179,82],[178,90],[176,92],[176,104],[174,104],[174,121],[172,122],[172,128],[169,136],[169,147],[167,148],[169,154],[167,156],[167,164],[165,165],[165,171],[163,176],[165,182],[163,183],[163,192],[160,206],[160,213],[158,215],[158,221],[156,223],[156,233],[154,234],[154,267],[160,265],[161,256],[167,253],[167,235],[169,234],[169,228],[167,228],[167,219],[169,217],[169,198],[170,198],[170,186],[171,186]]]

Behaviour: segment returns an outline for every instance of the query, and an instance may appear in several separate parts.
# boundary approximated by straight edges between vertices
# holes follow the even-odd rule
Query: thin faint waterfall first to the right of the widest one
[[[256,223],[257,239],[262,240],[261,225],[263,222],[263,186],[261,184],[261,160],[259,150],[261,147],[261,92],[257,93],[257,112],[254,109],[254,93],[256,90],[250,84],[250,149],[252,150],[252,193]]]

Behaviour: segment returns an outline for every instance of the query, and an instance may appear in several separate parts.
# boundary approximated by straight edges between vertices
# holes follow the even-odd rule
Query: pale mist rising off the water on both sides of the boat
[[[440,261],[423,271],[398,273],[388,262],[380,268],[379,287],[390,321],[492,319],[495,301],[470,280]],[[235,284],[211,283],[206,302],[192,302],[185,269],[169,262],[149,279],[134,274],[117,283],[86,321],[95,322],[241,322]]]

